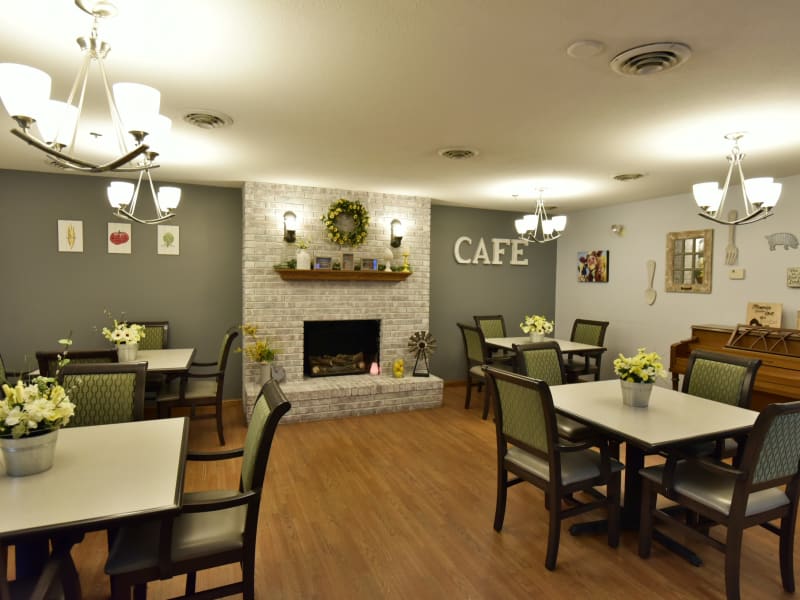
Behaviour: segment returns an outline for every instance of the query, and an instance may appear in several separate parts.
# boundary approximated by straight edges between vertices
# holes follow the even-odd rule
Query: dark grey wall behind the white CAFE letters
[[[456,240],[472,238],[464,246],[466,258],[483,238],[491,253],[492,238],[515,236],[518,213],[433,206],[431,208],[431,333],[438,348],[431,371],[448,381],[465,379],[464,344],[457,323],[474,324],[473,315],[501,314],[509,335],[524,335],[519,322],[528,314],[555,317],[556,243],[524,248],[527,266],[459,264],[453,254]],[[569,229],[569,225],[567,226]],[[508,248],[508,247],[506,247]]]

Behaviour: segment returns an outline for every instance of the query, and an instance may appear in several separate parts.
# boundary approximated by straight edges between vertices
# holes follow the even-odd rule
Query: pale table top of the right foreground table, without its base
[[[754,410],[660,386],[653,388],[649,407],[626,406],[618,379],[556,385],[550,393],[558,411],[646,449],[744,432],[758,417]]]

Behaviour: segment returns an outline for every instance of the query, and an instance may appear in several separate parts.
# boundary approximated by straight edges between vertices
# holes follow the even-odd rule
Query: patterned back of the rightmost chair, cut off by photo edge
[[[763,438],[760,433],[763,429]],[[752,469],[752,483],[767,485],[770,482],[785,482],[797,476],[800,464],[800,402],[787,402],[769,405],[758,417],[753,427],[751,443],[763,439],[760,449],[751,460],[755,461]],[[743,470],[747,465],[747,450],[742,463]]]

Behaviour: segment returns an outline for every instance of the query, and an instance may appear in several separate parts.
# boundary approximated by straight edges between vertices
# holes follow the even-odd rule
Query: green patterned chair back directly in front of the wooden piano
[[[696,350],[689,356],[682,391],[716,402],[749,408],[758,359]]]

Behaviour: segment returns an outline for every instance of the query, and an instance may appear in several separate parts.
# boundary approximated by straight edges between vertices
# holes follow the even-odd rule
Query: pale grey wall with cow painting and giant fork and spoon
[[[688,338],[691,325],[744,323],[748,302],[782,303],[782,326],[795,328],[800,289],[787,287],[786,269],[800,267],[800,249],[784,250],[779,246],[770,251],[765,239],[776,232],[789,232],[800,238],[800,176],[781,181],[783,194],[775,215],[736,228],[739,258],[735,267],[745,270],[743,280],[728,277],[731,266],[725,264],[725,246],[729,227],[699,217],[688,190],[677,196],[570,214],[566,232],[558,242],[556,334],[568,336],[576,317],[610,321],[606,337],[608,358],[603,363],[603,378],[610,378],[611,361],[620,352],[628,355],[637,347],[646,346],[663,357],[666,367],[670,345]],[[728,192],[726,211],[731,208],[742,213],[739,188]],[[611,233],[612,223],[625,226],[622,236]],[[711,293],[665,292],[667,233],[709,228],[714,230]],[[577,282],[577,252],[588,249],[610,251],[608,283]],[[648,259],[656,261],[654,287],[658,295],[652,306],[644,299]]]

